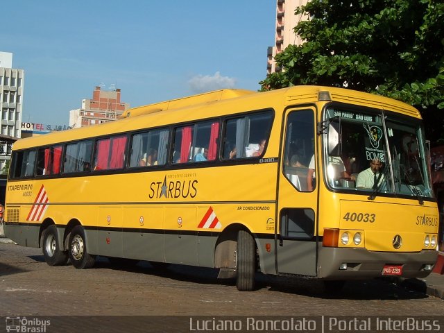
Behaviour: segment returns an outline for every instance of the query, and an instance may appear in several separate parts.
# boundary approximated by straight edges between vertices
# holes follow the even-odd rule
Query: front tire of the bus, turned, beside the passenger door
[[[255,288],[255,249],[253,236],[245,230],[239,230],[236,251],[236,287],[239,291],[252,291]]]

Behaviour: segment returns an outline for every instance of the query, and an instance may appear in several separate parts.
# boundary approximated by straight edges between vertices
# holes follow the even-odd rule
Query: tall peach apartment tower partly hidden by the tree
[[[278,53],[284,51],[289,44],[302,44],[302,40],[294,33],[293,29],[301,19],[306,19],[306,17],[302,15],[296,16],[294,10],[299,6],[305,5],[308,1],[309,0],[277,0],[275,45],[268,46],[267,74],[280,71],[280,68],[277,68],[275,63],[275,56]]]

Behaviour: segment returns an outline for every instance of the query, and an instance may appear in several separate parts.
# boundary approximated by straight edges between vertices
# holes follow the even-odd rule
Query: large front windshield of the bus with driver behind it
[[[325,179],[333,189],[433,196],[420,121],[384,112],[327,108]]]

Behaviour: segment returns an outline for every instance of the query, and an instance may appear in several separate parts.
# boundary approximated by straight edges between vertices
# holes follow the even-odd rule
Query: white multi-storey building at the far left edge
[[[12,68],[12,53],[0,52],[0,171],[10,160],[11,141],[21,136],[25,73]]]

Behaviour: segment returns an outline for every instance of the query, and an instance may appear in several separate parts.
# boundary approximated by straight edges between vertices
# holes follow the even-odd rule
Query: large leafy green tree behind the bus
[[[282,68],[262,90],[289,85],[348,87],[416,106],[427,137],[444,138],[444,3],[442,0],[311,0],[310,17],[275,60]],[[439,121],[439,123],[436,123]]]

